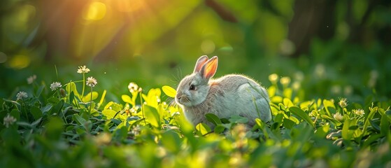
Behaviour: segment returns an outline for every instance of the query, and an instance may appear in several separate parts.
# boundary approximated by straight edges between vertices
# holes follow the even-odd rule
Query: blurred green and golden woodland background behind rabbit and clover
[[[97,78],[119,101],[129,82],[176,84],[201,55],[215,77],[271,85],[289,76],[302,99],[391,97],[391,1],[1,0],[0,97],[38,83]],[[57,67],[57,72],[56,72]]]

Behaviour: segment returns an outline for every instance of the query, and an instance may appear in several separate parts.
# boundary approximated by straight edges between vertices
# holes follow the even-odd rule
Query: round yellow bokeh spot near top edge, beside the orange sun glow
[[[92,2],[86,8],[83,12],[83,18],[85,20],[101,20],[106,15],[106,5],[101,2]]]

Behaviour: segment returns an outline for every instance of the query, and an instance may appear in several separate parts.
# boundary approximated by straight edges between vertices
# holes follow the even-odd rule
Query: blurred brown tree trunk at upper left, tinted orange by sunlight
[[[39,9],[41,20],[38,25],[38,33],[31,41],[29,47],[36,47],[46,43],[47,50],[45,61],[52,61],[52,57],[68,57],[73,36],[73,27],[78,24],[78,17],[88,1],[36,1],[36,8]]]

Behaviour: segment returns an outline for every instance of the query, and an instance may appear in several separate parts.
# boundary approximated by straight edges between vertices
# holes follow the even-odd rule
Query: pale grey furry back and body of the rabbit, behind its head
[[[269,95],[264,87],[242,75],[227,75],[210,80],[208,98],[215,99],[216,116],[230,118],[242,116],[254,125],[255,118],[267,122],[271,120]]]

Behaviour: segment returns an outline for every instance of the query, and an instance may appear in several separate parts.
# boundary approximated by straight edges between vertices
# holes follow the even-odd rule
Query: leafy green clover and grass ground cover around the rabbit
[[[130,83],[118,101],[106,101],[113,93],[97,89],[100,80],[86,85],[88,73],[55,88],[35,81],[27,97],[1,100],[0,167],[391,165],[390,101],[306,99],[290,78],[271,74],[271,122],[255,119],[247,131],[246,118],[207,114],[211,130],[192,127],[164,100],[175,95],[172,87]]]

